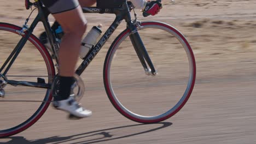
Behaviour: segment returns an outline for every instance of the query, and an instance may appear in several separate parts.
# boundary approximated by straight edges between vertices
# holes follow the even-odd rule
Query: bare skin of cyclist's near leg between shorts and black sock
[[[80,42],[86,29],[86,20],[80,6],[70,11],[53,14],[65,33],[59,51],[60,75],[73,76],[80,51]]]

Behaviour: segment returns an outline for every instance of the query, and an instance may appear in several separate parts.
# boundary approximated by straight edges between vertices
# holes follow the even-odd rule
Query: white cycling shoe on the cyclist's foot
[[[69,112],[71,114],[69,118],[84,118],[92,115],[92,111],[80,106],[72,95],[65,100],[53,101],[53,106],[58,110]]]

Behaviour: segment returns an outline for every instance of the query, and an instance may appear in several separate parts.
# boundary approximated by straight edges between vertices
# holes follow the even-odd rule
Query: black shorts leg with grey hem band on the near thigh
[[[78,0],[42,0],[51,14],[62,13],[79,6]]]

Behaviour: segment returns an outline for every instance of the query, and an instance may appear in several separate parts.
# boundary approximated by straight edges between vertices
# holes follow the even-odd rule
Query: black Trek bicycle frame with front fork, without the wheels
[[[53,48],[53,52],[55,52],[54,49],[59,49],[59,43],[56,40],[55,32],[53,32],[53,30],[51,29],[50,23],[48,21],[48,16],[50,14],[49,11],[43,7],[43,5],[42,5],[42,3],[40,3],[40,1],[34,3],[34,5],[36,5],[36,7],[38,8],[38,15],[36,16],[36,19],[34,19],[34,21],[32,22],[30,28],[28,28],[24,37],[21,38],[21,40],[19,41],[18,45],[16,45],[13,52],[11,52],[10,56],[7,58],[7,61],[5,61],[5,63],[0,68],[0,73],[1,73],[2,70],[9,63],[7,68],[5,69],[4,73],[2,74],[3,77],[7,74],[11,65],[14,63],[15,59],[18,57],[20,51],[22,50],[22,47],[24,47],[24,45],[26,44],[26,41],[32,34],[32,32],[33,32],[34,28],[37,26],[38,22],[40,22],[40,21],[43,22],[45,31],[49,38],[49,42]],[[76,74],[81,75],[83,73],[83,71],[86,69],[86,67],[88,67],[88,65],[92,61],[92,59],[94,59],[94,57],[97,55],[97,53],[101,50],[102,46],[106,43],[106,41],[109,39],[109,37],[113,34],[115,29],[120,25],[121,21],[123,21],[123,20],[125,20],[127,22],[127,28],[129,28],[131,31],[130,39],[131,39],[132,44],[135,48],[135,51],[138,55],[138,58],[140,59],[140,61],[142,63],[143,68],[145,70],[148,69],[147,68],[147,63],[148,63],[149,68],[152,70],[151,73],[152,74],[156,73],[154,66],[148,56],[147,50],[144,47],[141,38],[139,37],[137,28],[132,22],[131,15],[130,15],[131,7],[132,7],[131,3],[125,2],[121,6],[121,8],[117,8],[117,9],[98,9],[96,7],[84,7],[83,8],[84,13],[100,13],[100,14],[108,13],[108,14],[115,14],[116,17],[115,17],[115,20],[112,23],[112,25],[109,26],[107,31],[103,34],[101,39],[98,41],[98,43],[93,47],[93,49],[91,49],[89,51],[88,55],[86,55],[86,57],[84,58],[84,61],[80,64],[78,69],[75,71]],[[56,56],[56,53],[54,53],[54,54]],[[146,59],[147,63],[145,62],[145,59]],[[57,62],[57,57],[56,57],[56,62]],[[38,77],[38,79],[40,80],[39,77]],[[14,85],[14,86],[19,85],[19,86],[28,86],[28,87],[38,87],[38,88],[51,88],[51,86],[49,84],[42,82],[44,80],[40,80],[40,82],[27,82],[27,81],[14,81],[14,80],[6,80],[6,81],[8,84]]]

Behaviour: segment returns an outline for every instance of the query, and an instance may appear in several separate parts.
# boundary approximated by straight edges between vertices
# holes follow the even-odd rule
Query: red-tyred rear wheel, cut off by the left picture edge
[[[16,32],[21,29],[8,23],[0,23],[0,69],[22,38]],[[5,68],[0,71],[1,75]],[[54,75],[55,68],[49,52],[34,35],[31,35],[4,77],[14,81],[45,81],[48,84],[52,82]],[[1,80],[4,80],[3,77]],[[2,84],[1,87],[5,91],[5,97],[0,97],[0,137],[18,134],[37,122],[52,98],[50,88],[8,84]]]

